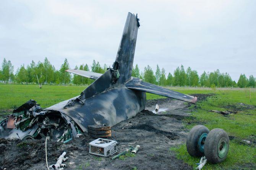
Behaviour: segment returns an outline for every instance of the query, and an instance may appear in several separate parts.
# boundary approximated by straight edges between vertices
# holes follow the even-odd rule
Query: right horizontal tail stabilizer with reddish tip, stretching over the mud
[[[148,92],[152,94],[162,95],[173,99],[182,100],[185,102],[196,103],[197,97],[186,95],[180,92],[175,92],[151,83],[147,83],[138,78],[133,78],[125,85],[129,89]]]

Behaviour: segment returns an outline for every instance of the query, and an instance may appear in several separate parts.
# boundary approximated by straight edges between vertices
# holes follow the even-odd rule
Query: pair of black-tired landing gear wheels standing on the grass
[[[186,148],[191,156],[205,156],[212,164],[226,159],[229,149],[229,138],[223,129],[209,129],[203,125],[194,126],[188,133]]]

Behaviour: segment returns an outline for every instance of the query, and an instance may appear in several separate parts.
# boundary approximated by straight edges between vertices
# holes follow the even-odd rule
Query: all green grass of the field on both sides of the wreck
[[[0,84],[0,111],[13,109],[20,106],[29,99],[34,99],[42,108],[46,108],[63,100],[77,96],[86,86],[42,86],[39,89],[36,85],[9,85]],[[237,109],[238,103],[256,106],[256,89],[211,89],[211,88],[172,88],[185,94],[208,94],[216,95],[208,100],[191,105],[192,115],[183,119],[186,128],[191,129],[197,124],[203,124],[209,130],[214,128],[224,129],[229,136],[230,149],[227,159],[212,165],[207,163],[204,170],[215,169],[254,169],[256,167],[256,109],[244,108],[236,114],[223,116],[211,110],[226,111]],[[147,94],[147,99],[162,98],[158,95]],[[194,107],[196,106],[196,109]],[[227,108],[229,106],[229,108]],[[7,113],[5,113],[7,114]],[[254,142],[246,144],[243,140]],[[193,167],[199,162],[199,158],[191,157],[185,144],[170,148],[178,159],[184,160]]]

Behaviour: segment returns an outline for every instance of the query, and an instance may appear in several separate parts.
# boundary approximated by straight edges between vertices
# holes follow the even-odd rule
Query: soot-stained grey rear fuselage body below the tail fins
[[[72,118],[78,126],[87,132],[87,126],[118,122],[135,116],[145,108],[146,94],[127,89],[125,86],[114,88],[84,100],[84,105],[75,103],[63,108],[68,100],[53,105],[46,110],[58,110]]]

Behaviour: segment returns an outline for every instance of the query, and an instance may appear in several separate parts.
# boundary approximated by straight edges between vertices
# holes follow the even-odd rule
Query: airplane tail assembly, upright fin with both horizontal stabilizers
[[[95,79],[95,81],[81,93],[79,100],[93,97],[94,95],[113,89],[120,84],[125,84],[128,89],[134,91],[148,92],[190,103],[196,102],[197,98],[191,95],[175,92],[151,83],[143,82],[141,79],[131,77],[139,26],[137,15],[135,16],[132,13],[128,13],[113,68],[108,69],[104,74],[78,69],[66,70],[70,73]]]

